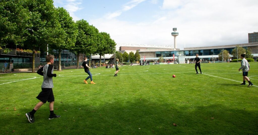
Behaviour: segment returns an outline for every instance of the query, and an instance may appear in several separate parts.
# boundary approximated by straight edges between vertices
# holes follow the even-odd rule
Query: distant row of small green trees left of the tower
[[[135,54],[133,52],[130,52],[129,54],[127,52],[124,52],[123,54],[121,52],[116,52],[116,58],[118,58],[121,62],[127,62],[129,59],[130,62],[135,62],[140,61],[141,59],[139,51],[136,51]]]

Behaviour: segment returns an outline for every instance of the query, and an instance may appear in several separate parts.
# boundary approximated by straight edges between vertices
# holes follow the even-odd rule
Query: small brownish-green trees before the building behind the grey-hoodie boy
[[[232,56],[233,56],[233,59],[239,59],[241,58],[241,54],[245,54],[245,58],[248,59],[248,58],[253,58],[254,56],[252,55],[252,50],[248,47],[247,49],[244,49],[243,47],[240,47],[240,46],[237,46],[236,48],[234,48],[232,50]],[[219,53],[219,60],[227,60],[229,59],[229,52],[228,50],[221,50],[221,52]]]

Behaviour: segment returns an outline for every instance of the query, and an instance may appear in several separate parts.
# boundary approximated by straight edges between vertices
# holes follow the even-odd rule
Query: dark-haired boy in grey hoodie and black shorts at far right
[[[241,59],[242,59],[241,67],[238,69],[238,71],[240,71],[240,69],[242,69],[242,71],[243,71],[243,83],[241,83],[240,85],[245,85],[245,80],[247,80],[249,83],[249,85],[247,87],[250,87],[250,86],[254,85],[253,83],[251,83],[251,81],[247,77],[248,71],[250,70],[250,66],[249,66],[248,61],[245,59],[245,54],[241,54]]]

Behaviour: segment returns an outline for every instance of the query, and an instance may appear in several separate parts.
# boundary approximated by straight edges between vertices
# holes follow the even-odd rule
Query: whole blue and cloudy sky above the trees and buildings
[[[54,0],[116,43],[177,48],[248,43],[258,32],[258,0]]]

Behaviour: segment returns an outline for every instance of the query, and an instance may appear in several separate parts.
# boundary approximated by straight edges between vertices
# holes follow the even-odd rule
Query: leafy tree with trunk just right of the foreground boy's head
[[[72,17],[64,8],[56,8],[57,19],[60,23],[60,36],[56,36],[59,42],[53,44],[53,48],[58,50],[58,64],[59,71],[61,71],[61,52],[65,49],[69,50],[75,45],[76,36],[78,34],[78,29]]]

